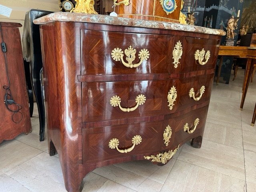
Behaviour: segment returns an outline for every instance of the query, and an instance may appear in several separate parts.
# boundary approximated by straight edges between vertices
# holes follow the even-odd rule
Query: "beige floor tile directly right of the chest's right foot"
[[[243,148],[242,128],[231,128],[221,124],[206,122],[204,128],[204,140]]]

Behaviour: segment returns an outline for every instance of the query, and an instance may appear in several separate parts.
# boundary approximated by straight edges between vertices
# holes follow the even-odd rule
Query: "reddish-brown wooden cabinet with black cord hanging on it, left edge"
[[[5,54],[0,50],[0,143],[3,140],[11,140],[20,133],[28,134],[31,132],[30,113],[28,107],[28,93],[26,89],[24,62],[22,57],[22,47],[20,40],[19,23],[0,22],[2,36],[0,42],[6,44],[6,61]],[[7,70],[6,70],[7,67]],[[9,111],[4,103],[6,90],[3,86],[8,86],[8,76],[10,78],[10,92],[12,99],[16,104],[10,104]],[[10,96],[7,97],[7,99]],[[13,121],[14,120],[14,121]]]

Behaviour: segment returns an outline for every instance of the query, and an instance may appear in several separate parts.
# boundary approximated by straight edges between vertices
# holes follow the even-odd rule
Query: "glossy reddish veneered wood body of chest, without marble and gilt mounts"
[[[199,138],[194,146],[200,146],[219,36],[82,22],[52,22],[40,26],[40,32],[49,151],[51,155],[55,150],[59,154],[69,192],[78,192],[84,176],[97,167],[144,160],[144,155],[172,150],[193,138]],[[184,44],[184,36],[196,38],[191,41],[194,48],[209,39],[206,48],[213,52],[209,66],[199,69],[193,63],[192,71],[182,71],[188,55],[185,48],[180,66],[173,67],[172,50],[178,40]],[[204,41],[196,44],[197,38]],[[148,64],[130,69],[111,60],[114,47],[127,48],[130,44],[154,53]],[[173,85],[178,98],[171,111],[167,95]],[[202,85],[207,87],[206,92],[195,102],[188,92]],[[145,94],[146,103],[134,113],[120,112],[109,103],[110,97],[119,95],[121,105],[131,107],[138,94]],[[195,118],[200,118],[196,131],[184,132],[184,124],[192,126]],[[162,134],[168,124],[173,137],[166,147]],[[143,142],[130,154],[119,154],[108,147],[110,139],[118,138],[120,148],[128,148],[132,137],[139,134]]]

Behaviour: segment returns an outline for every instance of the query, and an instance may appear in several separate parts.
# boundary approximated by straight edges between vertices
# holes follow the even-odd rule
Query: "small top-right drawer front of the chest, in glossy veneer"
[[[210,50],[210,58],[205,65],[200,65],[198,60],[195,60],[194,54],[196,50],[202,51],[203,48],[205,50],[205,54]],[[181,72],[214,69],[218,50],[219,40],[184,37],[183,53],[186,54],[182,57]],[[204,58],[202,61],[205,62],[206,59]]]

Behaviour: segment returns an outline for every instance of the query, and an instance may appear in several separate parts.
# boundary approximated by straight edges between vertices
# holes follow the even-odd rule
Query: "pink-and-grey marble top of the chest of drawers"
[[[34,24],[46,24],[55,21],[72,21],[72,22],[88,22],[88,23],[100,23],[109,25],[122,25],[133,26],[143,28],[156,28],[156,29],[170,29],[170,30],[182,30],[188,32],[213,34],[213,35],[226,35],[224,30],[211,29],[193,25],[184,25],[171,22],[141,20],[132,18],[113,17],[100,14],[83,14],[83,13],[70,13],[70,12],[55,12],[46,16],[35,19]]]

